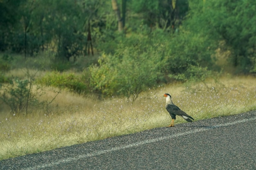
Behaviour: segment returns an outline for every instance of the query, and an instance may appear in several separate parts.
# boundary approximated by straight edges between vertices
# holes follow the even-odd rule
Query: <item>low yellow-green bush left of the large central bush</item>
[[[74,73],[51,72],[44,77],[37,79],[37,83],[46,86],[67,88],[76,93],[82,93],[88,90],[86,80],[78,75],[75,75]]]

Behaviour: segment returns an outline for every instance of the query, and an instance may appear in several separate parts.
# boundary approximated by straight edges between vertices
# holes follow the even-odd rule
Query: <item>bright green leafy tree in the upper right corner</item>
[[[256,61],[256,1],[190,1],[185,26],[209,36],[207,41],[224,40],[232,51],[231,64],[248,73]]]

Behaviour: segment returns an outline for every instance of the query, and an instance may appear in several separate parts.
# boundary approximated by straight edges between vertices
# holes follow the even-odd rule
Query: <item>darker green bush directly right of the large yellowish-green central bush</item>
[[[207,36],[182,31],[170,40],[168,48],[171,48],[165,62],[168,74],[182,74],[191,66],[214,68],[211,55],[216,47],[207,42]]]

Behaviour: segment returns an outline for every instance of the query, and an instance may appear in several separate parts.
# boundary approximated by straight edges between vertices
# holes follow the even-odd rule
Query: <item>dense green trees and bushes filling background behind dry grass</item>
[[[24,63],[44,56],[50,61],[34,67],[60,72],[37,83],[100,97],[136,99],[162,83],[256,71],[254,0],[117,0],[117,5],[126,13],[121,31],[110,0],[1,0],[1,83],[9,82],[5,72],[14,54],[24,55]],[[72,69],[83,76],[61,73]]]

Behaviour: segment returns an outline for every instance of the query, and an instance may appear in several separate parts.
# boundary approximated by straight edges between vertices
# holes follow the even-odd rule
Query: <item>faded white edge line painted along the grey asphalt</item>
[[[174,138],[174,137],[189,135],[189,134],[193,134],[193,133],[197,133],[197,132],[211,130],[211,129],[214,129],[214,128],[231,126],[231,125],[234,125],[234,124],[244,123],[244,122],[252,121],[252,120],[256,120],[256,117],[253,117],[253,118],[250,118],[250,119],[238,120],[238,121],[234,121],[234,122],[229,122],[229,123],[226,123],[226,124],[219,124],[219,125],[216,125],[216,126],[211,126],[211,128],[199,128],[199,129],[189,130],[187,132],[182,132],[182,133],[178,133],[178,134],[170,135],[170,136],[166,136],[166,137],[148,139],[148,140],[145,140],[145,141],[136,142],[134,144],[129,144],[129,145],[120,146],[120,147],[114,147],[114,148],[107,149],[107,150],[94,151],[92,153],[88,153],[88,154],[85,154],[85,155],[78,155],[78,156],[72,157],[72,158],[65,158],[65,159],[61,159],[61,160],[56,161],[56,162],[45,163],[45,164],[41,164],[41,165],[29,167],[29,168],[24,168],[22,170],[36,170],[36,169],[52,167],[52,166],[55,166],[55,165],[58,165],[58,164],[61,164],[61,163],[68,163],[68,162],[75,161],[75,160],[78,160],[78,159],[85,159],[85,158],[88,158],[88,157],[94,157],[94,156],[97,156],[97,155],[113,152],[113,151],[116,151],[116,150],[122,150],[122,149],[126,149],[126,148],[137,147],[137,146],[141,146],[141,145],[144,145],[144,144],[151,144],[151,143],[162,141],[162,140],[165,140],[165,139],[171,139],[171,138]]]

